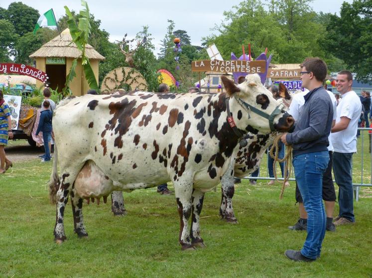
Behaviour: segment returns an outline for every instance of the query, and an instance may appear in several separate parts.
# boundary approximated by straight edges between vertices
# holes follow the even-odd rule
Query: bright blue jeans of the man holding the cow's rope
[[[326,232],[326,213],[322,202],[322,180],[329,162],[328,151],[310,152],[293,157],[294,174],[307,212],[307,237],[301,254],[320,256]]]

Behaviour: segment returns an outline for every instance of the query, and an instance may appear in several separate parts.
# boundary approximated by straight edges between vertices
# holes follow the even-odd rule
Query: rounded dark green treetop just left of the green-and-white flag
[[[13,24],[15,33],[23,36],[33,30],[40,14],[36,9],[22,2],[12,2],[8,6],[6,16]]]

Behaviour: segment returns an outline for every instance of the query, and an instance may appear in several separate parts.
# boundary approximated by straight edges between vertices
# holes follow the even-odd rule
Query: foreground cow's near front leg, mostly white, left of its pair
[[[173,185],[180,215],[179,243],[182,250],[194,249],[191,245],[188,223],[191,214],[192,183],[174,182]]]

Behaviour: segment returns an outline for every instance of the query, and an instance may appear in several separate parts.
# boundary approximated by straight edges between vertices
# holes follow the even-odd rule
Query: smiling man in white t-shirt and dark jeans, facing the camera
[[[358,120],[362,113],[362,103],[352,91],[353,75],[349,70],[337,74],[336,87],[342,99],[337,106],[336,124],[332,128],[333,174],[339,186],[340,212],[335,225],[355,222],[353,178],[351,174],[352,156],[357,151]]]

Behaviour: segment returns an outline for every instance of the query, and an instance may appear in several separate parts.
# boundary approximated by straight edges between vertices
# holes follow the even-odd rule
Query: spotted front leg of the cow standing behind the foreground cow
[[[232,161],[235,161],[232,159]],[[234,197],[234,163],[230,163],[229,169],[222,176],[221,180],[221,206],[220,216],[221,219],[226,220],[229,223],[238,223],[237,218],[234,214],[233,209],[233,197]]]

